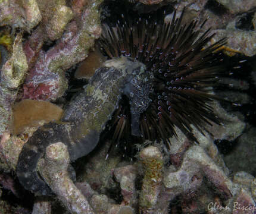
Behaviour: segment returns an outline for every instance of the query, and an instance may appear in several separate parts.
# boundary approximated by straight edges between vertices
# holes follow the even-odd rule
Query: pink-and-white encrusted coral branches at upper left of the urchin
[[[101,34],[99,20],[95,18],[98,12],[96,6],[82,13],[74,12],[79,21],[70,21],[73,13],[67,7],[58,5],[58,8],[60,10],[57,10],[54,20],[48,23],[46,29],[43,29],[43,25],[38,26],[24,43],[24,52],[31,68],[23,85],[25,99],[55,100],[62,96],[67,89],[64,72],[88,56],[89,48]],[[58,22],[63,17],[60,12],[63,8],[69,18],[65,18],[65,22]],[[60,39],[45,52],[41,48],[47,37],[51,40]]]

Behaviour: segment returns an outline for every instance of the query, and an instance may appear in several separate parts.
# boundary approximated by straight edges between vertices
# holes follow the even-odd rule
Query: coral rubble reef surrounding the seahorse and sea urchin
[[[105,1],[105,4],[110,2],[112,1]],[[202,134],[190,123],[191,132],[198,144],[193,144],[179,128],[174,127],[177,136],[170,138],[170,150],[166,150],[163,142],[145,141],[138,146],[141,152],[132,160],[124,161],[123,153],[118,148],[108,153],[111,142],[106,137],[94,152],[73,164],[78,175],[77,182],[70,176],[71,168],[68,163],[72,155],[68,153],[65,140],[52,142],[54,144],[46,147],[45,156],[39,160],[38,170],[54,195],[52,198],[36,196],[33,201],[26,192],[26,197],[33,204],[27,206],[22,203],[24,196],[17,188],[18,181],[13,173],[18,157],[23,145],[33,139],[32,135],[38,125],[43,124],[43,121],[38,120],[50,120],[44,113],[49,111],[48,107],[38,111],[35,103],[46,103],[39,100],[48,100],[61,108],[67,103],[63,95],[68,93],[67,89],[73,87],[68,86],[67,74],[74,72],[77,64],[87,56],[90,57],[93,49],[97,49],[94,43],[101,35],[101,10],[106,17],[111,15],[110,8],[99,10],[101,3],[101,0],[0,1],[1,32],[8,32],[4,37],[2,34],[0,36],[0,184],[3,187],[0,189],[0,212],[255,213],[255,124],[248,122],[254,120],[255,113],[253,109],[242,114],[239,112],[241,106],[251,108],[251,103],[255,102],[252,89],[256,85],[256,5],[255,1],[247,0],[127,1],[142,16],[148,16],[147,12],[154,13],[164,6],[166,22],[173,17],[173,14],[168,15],[170,8],[177,8],[179,17],[185,6],[182,24],[192,19],[202,23],[208,18],[201,28],[202,32],[212,27],[216,33],[214,39],[228,37],[226,48],[229,51],[231,49],[233,53],[253,56],[252,59],[245,58],[251,60],[248,62],[251,67],[248,66],[246,72],[243,70],[243,76],[242,72],[233,69],[246,64],[244,58],[240,57],[235,59],[238,61],[235,65],[229,67],[230,76],[221,78],[221,84],[226,87],[225,90],[216,91],[216,94],[231,100],[233,107],[224,105],[227,108],[224,110],[218,102],[211,103],[213,114],[218,115],[223,122],[221,125],[205,124],[203,128],[211,134]],[[99,57],[98,53],[89,57],[88,61],[79,64],[76,78],[89,78],[93,76],[96,67],[101,67],[104,58]],[[82,74],[85,67],[89,70]],[[234,79],[233,73],[240,75]],[[245,78],[245,75],[249,77]],[[93,90],[88,89],[88,92]],[[26,100],[28,98],[35,100]],[[30,105],[25,110],[33,115],[32,122],[23,119],[28,127],[24,127],[21,122],[15,124],[20,101]],[[59,107],[49,103],[45,105],[57,108],[58,114],[61,114]],[[44,108],[42,106],[40,108]],[[76,114],[77,112],[79,110],[76,109]],[[73,113],[70,110],[64,117],[72,118]],[[51,116],[54,119],[60,118],[55,113]],[[95,125],[100,124],[101,116],[94,121]],[[65,122],[62,121],[61,124],[69,128],[64,125]],[[14,131],[15,125],[19,128],[16,127]],[[217,141],[220,143],[216,143]],[[133,143],[137,141],[134,140]],[[229,150],[227,154],[221,153],[223,150],[220,144]],[[7,174],[8,172],[11,173]],[[8,200],[14,199],[12,203],[6,200],[6,194],[11,196]],[[58,211],[55,210],[58,206],[57,200],[52,200],[55,198],[64,204]],[[18,205],[17,201],[20,202]]]

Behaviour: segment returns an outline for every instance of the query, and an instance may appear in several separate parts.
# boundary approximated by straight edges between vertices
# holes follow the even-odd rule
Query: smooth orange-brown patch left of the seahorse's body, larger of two
[[[44,122],[58,121],[63,109],[50,102],[24,99],[13,108],[13,134],[17,135],[26,127],[39,127]]]

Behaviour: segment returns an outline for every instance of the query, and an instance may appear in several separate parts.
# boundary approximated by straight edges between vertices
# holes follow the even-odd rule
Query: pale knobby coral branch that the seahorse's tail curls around
[[[57,142],[46,148],[45,159],[39,162],[39,171],[69,212],[93,214],[88,200],[68,176],[69,161],[67,146]]]

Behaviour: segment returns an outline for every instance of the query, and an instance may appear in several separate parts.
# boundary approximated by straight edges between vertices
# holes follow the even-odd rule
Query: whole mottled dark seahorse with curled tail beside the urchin
[[[46,147],[63,142],[68,147],[70,161],[90,153],[118,107],[121,95],[130,100],[132,133],[138,136],[139,117],[151,102],[151,88],[152,75],[145,72],[145,65],[141,62],[124,57],[106,61],[90,78],[85,91],[67,105],[62,120],[43,125],[24,145],[16,169],[24,188],[38,195],[52,194],[36,169]]]

